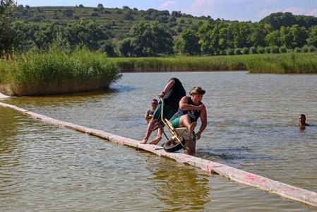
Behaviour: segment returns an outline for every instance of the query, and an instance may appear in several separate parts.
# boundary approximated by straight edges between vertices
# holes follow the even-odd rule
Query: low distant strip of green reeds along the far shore
[[[248,70],[250,73],[317,73],[316,53],[217,57],[112,58],[121,72]]]

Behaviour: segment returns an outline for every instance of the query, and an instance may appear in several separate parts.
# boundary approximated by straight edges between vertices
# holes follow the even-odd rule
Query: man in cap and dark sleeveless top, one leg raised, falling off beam
[[[201,133],[207,126],[207,111],[205,105],[201,100],[205,94],[205,90],[201,87],[195,86],[189,92],[191,95],[184,96],[179,101],[179,110],[169,120],[175,128],[186,127],[190,134],[193,134],[193,130],[196,127],[198,118],[201,118],[201,128],[196,134],[196,138],[201,139]],[[189,155],[195,154],[196,142],[189,141],[185,143],[185,151]]]

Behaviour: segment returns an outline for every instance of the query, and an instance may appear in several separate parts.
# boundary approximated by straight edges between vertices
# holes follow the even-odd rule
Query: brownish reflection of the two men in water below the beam
[[[209,180],[207,176],[198,175],[193,167],[162,160],[153,176],[153,187],[157,191],[154,195],[165,203],[164,211],[201,211],[210,201]]]

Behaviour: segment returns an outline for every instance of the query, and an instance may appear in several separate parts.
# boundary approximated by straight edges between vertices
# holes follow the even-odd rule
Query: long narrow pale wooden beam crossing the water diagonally
[[[6,103],[0,102],[0,106],[8,107],[13,110],[23,112],[24,114],[28,114],[32,118],[39,119],[49,124],[64,126],[68,129],[74,129],[74,130],[81,131],[90,135],[98,136],[102,139],[106,139],[114,143],[118,143],[125,146],[131,146],[137,149],[143,149],[145,151],[155,153],[157,155],[164,156],[166,158],[174,159],[179,163],[186,163],[194,167],[199,167],[208,173],[215,173],[223,177],[227,177],[228,179],[232,179],[235,182],[246,184],[251,187],[256,187],[257,189],[262,189],[266,192],[278,194],[287,199],[292,199],[294,201],[299,201],[301,203],[309,204],[311,206],[317,207],[317,193],[316,192],[311,192],[309,190],[301,189],[299,187],[293,187],[292,185],[289,185],[289,184],[278,182],[273,179],[268,179],[266,177],[261,177],[259,175],[254,175],[250,172],[238,170],[234,167],[230,167],[228,165],[224,165],[221,163],[216,163],[216,162],[205,160],[202,158],[196,158],[191,155],[186,155],[183,153],[167,153],[160,146],[151,145],[151,144],[140,144],[139,141],[136,141],[133,139],[128,139],[122,136],[109,134],[102,130],[90,129],[85,126],[80,126],[77,124],[72,124],[69,122],[52,119],[42,114],[37,114],[35,112],[30,112],[29,110],[25,110],[20,107],[16,107],[15,105],[8,105]]]

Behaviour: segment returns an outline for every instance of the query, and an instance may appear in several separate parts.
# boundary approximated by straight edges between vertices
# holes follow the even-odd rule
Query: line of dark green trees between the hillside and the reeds
[[[17,6],[12,0],[0,2],[0,54],[46,49],[57,35],[61,35],[69,49],[87,47],[107,52],[110,57],[283,53],[289,49],[314,52],[317,47],[317,18],[292,13],[272,13],[259,23],[205,17],[207,21],[199,21],[175,33],[172,23],[177,24],[177,18],[183,18],[179,23],[185,20],[193,23],[195,17],[177,11],[149,9],[143,11],[143,20],[131,22],[129,33],[119,39],[109,25],[100,25],[93,18],[74,18],[71,8],[63,11],[64,16],[73,17],[67,23],[43,19],[25,21],[17,18],[28,16],[28,6]],[[107,8],[98,4],[94,11],[105,13]],[[132,21],[138,9],[125,6],[116,11],[125,13],[124,17]]]

